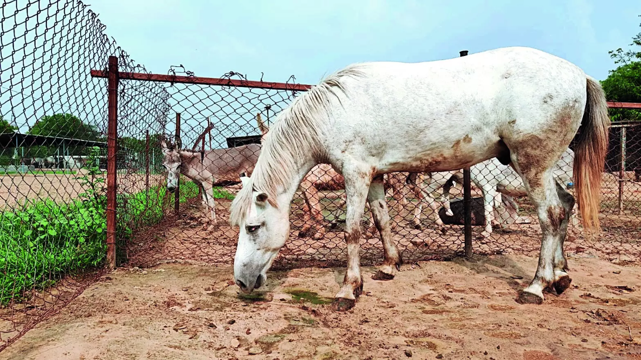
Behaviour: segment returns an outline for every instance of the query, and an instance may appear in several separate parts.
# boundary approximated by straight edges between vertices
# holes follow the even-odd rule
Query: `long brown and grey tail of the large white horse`
[[[599,231],[601,174],[608,151],[610,117],[601,84],[587,76],[587,102],[574,154],[574,186],[583,228]]]

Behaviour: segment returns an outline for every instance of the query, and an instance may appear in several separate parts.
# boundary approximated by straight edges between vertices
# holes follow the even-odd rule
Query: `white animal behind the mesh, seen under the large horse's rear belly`
[[[567,184],[570,183],[572,179],[572,163],[574,163],[574,151],[568,148],[552,168],[554,179],[564,188],[567,187]],[[433,173],[427,185],[427,192],[434,191],[438,188],[443,189],[443,197],[445,198],[443,206],[447,210],[449,210],[449,186],[447,186],[447,183],[453,181],[463,184],[463,170]],[[483,192],[485,229],[481,232],[481,236],[487,238],[492,234],[493,225],[495,227],[501,227],[504,223],[499,221],[504,217],[496,213],[496,209],[501,206],[501,194],[509,195],[510,197],[525,196],[527,195],[525,184],[512,166],[503,165],[497,158],[472,165],[472,167],[470,167],[470,181]],[[431,199],[429,193],[424,195],[424,197],[428,197],[428,200]],[[512,200],[508,200],[508,202],[512,203]],[[516,204],[512,206],[518,209]],[[570,214],[570,222],[573,227],[578,225],[576,221],[577,218],[574,215],[577,208],[577,204],[574,204],[572,214]],[[448,215],[451,214],[448,213]],[[515,224],[531,222],[528,217],[517,216],[513,218],[513,220]]]

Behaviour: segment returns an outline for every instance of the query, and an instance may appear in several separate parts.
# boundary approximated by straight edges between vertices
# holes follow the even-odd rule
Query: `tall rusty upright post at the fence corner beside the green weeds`
[[[109,56],[107,81],[107,265],[116,266],[116,173],[118,136],[118,58]]]

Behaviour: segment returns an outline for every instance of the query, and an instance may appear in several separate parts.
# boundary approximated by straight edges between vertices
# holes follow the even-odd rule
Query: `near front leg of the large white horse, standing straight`
[[[347,168],[347,166],[344,167]],[[360,272],[360,234],[365,200],[369,192],[372,174],[367,171],[345,171],[345,195],[347,214],[345,217],[345,241],[347,242],[347,271],[342,287],[336,294],[331,308],[347,311],[354,307],[356,298],[363,292],[363,276]]]

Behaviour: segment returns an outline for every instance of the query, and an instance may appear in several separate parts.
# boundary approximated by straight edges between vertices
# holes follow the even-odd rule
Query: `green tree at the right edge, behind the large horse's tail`
[[[639,15],[641,17],[641,15]],[[640,25],[641,26],[641,25]],[[630,46],[641,47],[641,33],[632,38]],[[610,70],[610,75],[601,81],[608,100],[620,102],[641,102],[641,51],[617,49],[609,52],[614,63],[621,64]],[[612,109],[612,120],[641,120],[641,111]]]

